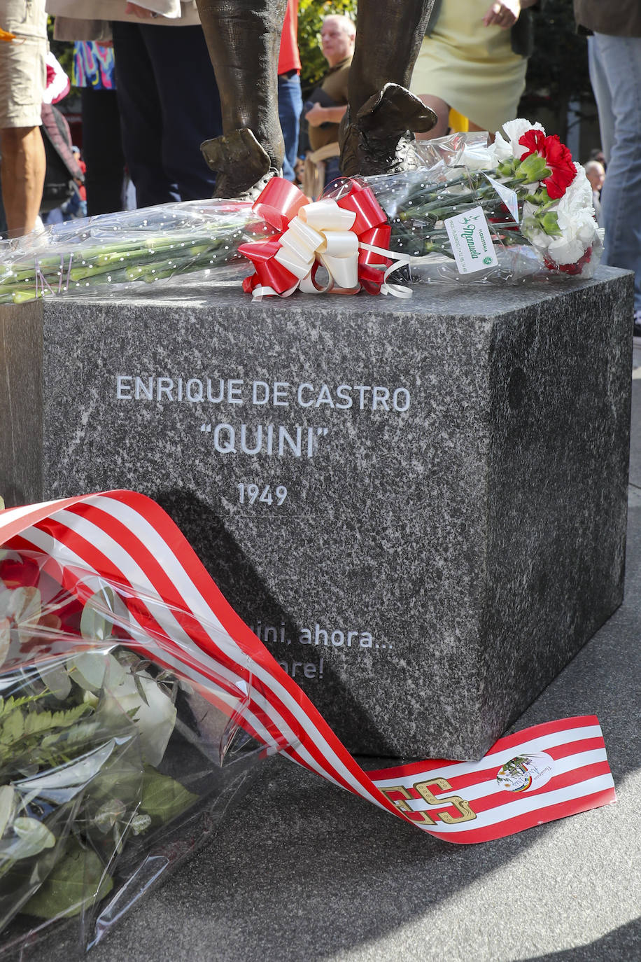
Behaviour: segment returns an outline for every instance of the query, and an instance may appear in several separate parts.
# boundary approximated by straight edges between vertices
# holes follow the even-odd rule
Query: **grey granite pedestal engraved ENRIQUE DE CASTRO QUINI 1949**
[[[7,503],[155,497],[352,750],[481,756],[622,600],[629,274],[1,312]]]

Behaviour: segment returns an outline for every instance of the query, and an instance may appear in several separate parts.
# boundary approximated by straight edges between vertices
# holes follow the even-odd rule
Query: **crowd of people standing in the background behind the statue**
[[[443,136],[452,111],[466,118],[469,130],[494,131],[516,115],[536,3],[434,0],[411,82],[434,116],[431,130],[419,137]],[[605,263],[635,273],[635,334],[641,336],[641,8],[635,0],[574,0],[574,6],[579,31],[589,34],[603,149],[602,156],[590,158],[586,173],[605,230]],[[201,13],[206,10],[201,3]],[[42,203],[47,14],[55,17],[55,37],[74,43],[71,80],[82,91],[86,172],[76,177],[74,168],[73,177],[83,202],[86,191],[86,207],[78,204],[76,213],[121,209],[125,171],[139,207],[210,196],[216,173],[201,145],[224,139],[230,97],[223,95],[221,106],[214,51],[211,39],[208,50],[195,0],[0,0],[0,27],[9,38],[0,43],[2,197],[9,236],[31,231]],[[287,0],[278,61],[283,174],[317,197],[341,172],[339,127],[348,111],[356,25],[345,15],[324,18],[320,44],[327,70],[304,104],[297,15],[298,0]],[[220,60],[220,51],[216,55]],[[223,58],[224,74],[219,67],[223,94],[234,84],[238,56],[242,52]]]

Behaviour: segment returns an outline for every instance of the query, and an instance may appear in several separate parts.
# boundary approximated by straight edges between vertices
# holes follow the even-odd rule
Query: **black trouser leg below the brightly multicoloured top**
[[[86,163],[86,213],[122,210],[125,156],[115,90],[81,89],[83,158]]]

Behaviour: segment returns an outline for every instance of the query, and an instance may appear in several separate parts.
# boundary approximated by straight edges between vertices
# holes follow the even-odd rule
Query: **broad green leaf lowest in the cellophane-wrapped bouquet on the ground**
[[[113,879],[96,853],[71,839],[61,860],[21,911],[38,919],[71,917],[104,899],[112,888]]]

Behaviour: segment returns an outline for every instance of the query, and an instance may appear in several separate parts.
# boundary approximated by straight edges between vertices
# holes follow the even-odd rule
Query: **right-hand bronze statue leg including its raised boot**
[[[347,176],[404,169],[412,132],[436,115],[407,90],[434,0],[359,0],[349,115],[341,125]]]

